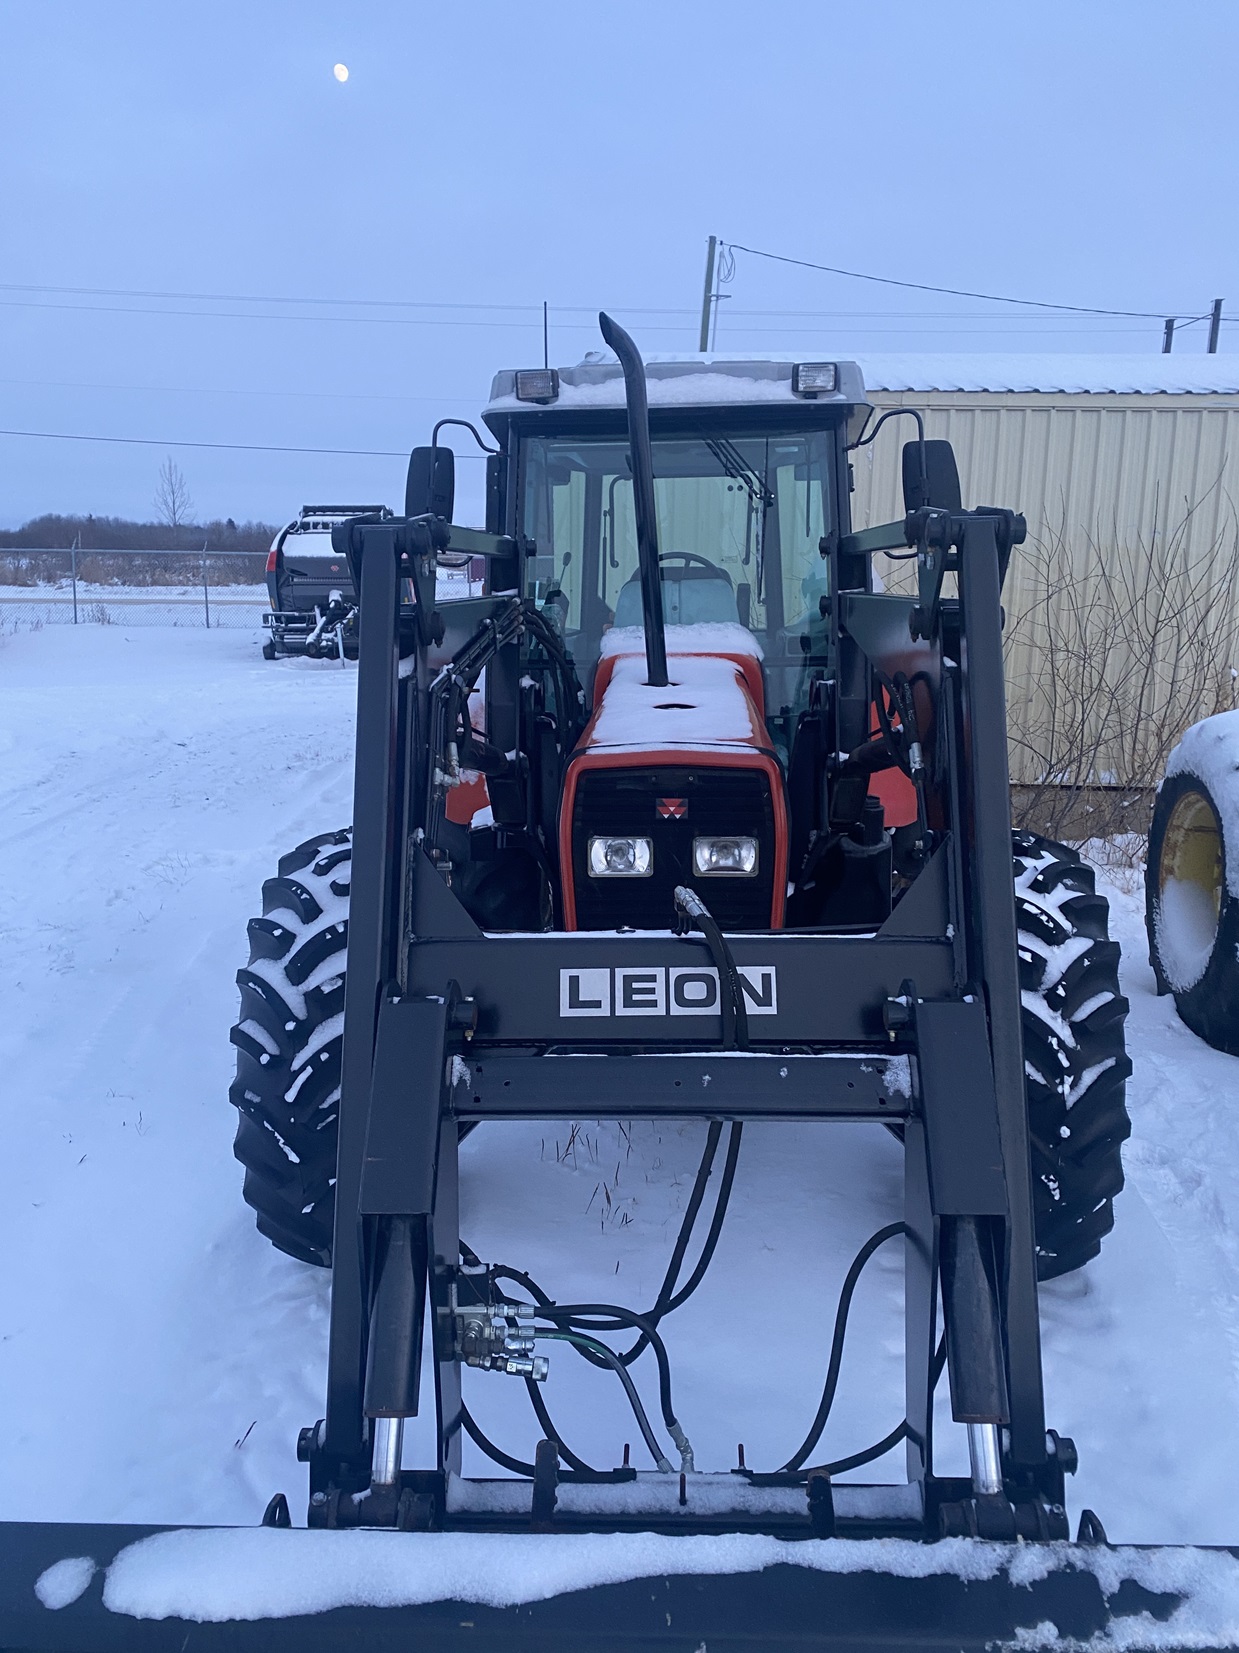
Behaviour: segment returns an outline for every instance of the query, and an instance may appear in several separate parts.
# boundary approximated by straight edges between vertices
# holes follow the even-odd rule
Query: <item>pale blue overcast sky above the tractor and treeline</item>
[[[405,453],[540,362],[544,299],[553,362],[600,306],[694,350],[710,233],[1155,312],[737,253],[722,352],[1239,317],[1234,0],[0,0],[0,426],[154,443],[0,436],[3,526],[149,516],[167,453],[202,517],[395,506],[396,456],[170,443]]]

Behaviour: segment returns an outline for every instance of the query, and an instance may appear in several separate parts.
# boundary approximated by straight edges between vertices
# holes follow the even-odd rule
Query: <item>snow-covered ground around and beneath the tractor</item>
[[[276,1489],[304,1508],[294,1441],[322,1412],[327,1281],[273,1253],[241,1203],[228,1025],[263,878],[349,820],[357,679],[266,663],[259,645],[116,625],[0,636],[10,1519],[253,1522]],[[1234,1542],[1239,1066],[1153,995],[1120,881],[1128,1187],[1100,1261],[1042,1291],[1047,1415],[1080,1448],[1072,1509],[1095,1508],[1113,1539]],[[477,1131],[463,1231],[560,1299],[648,1306],[700,1141],[697,1126]],[[666,1324],[700,1468],[730,1466],[738,1440],[762,1468],[798,1445],[839,1281],[897,1215],[881,1129],[747,1129],[714,1270]],[[529,1456],[522,1387],[468,1377],[482,1427]],[[615,1463],[631,1440],[643,1461],[606,1374],[555,1349],[547,1400],[577,1451]],[[892,1245],[857,1291],[824,1451],[884,1435],[900,1403]],[[963,1466],[948,1428],[940,1463]],[[899,1455],[876,1470],[900,1474]]]

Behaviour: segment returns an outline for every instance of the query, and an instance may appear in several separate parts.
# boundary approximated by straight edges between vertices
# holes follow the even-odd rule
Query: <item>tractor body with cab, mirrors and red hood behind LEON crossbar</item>
[[[610,359],[497,374],[484,534],[451,526],[438,435],[463,422],[413,451],[405,628],[439,673],[425,853],[484,931],[667,931],[686,894],[724,931],[876,929],[930,848],[937,668],[872,595],[904,521],[851,529],[861,372],[646,364],[601,327]],[[947,443],[904,456],[909,509],[958,507]],[[436,605],[436,559],[471,554],[486,595]]]

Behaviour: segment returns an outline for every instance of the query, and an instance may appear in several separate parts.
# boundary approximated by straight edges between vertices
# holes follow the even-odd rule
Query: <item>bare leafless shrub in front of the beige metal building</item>
[[[1239,704],[1239,526],[1188,555],[1168,534],[1072,554],[1062,532],[1013,565],[1008,736],[1018,825],[1052,836],[1143,835],[1183,731]]]

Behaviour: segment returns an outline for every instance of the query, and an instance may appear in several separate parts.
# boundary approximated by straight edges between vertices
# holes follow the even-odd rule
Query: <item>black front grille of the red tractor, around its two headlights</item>
[[[659,815],[659,798],[682,798],[682,817]],[[694,878],[692,840],[743,833],[757,838],[753,878]],[[590,878],[590,838],[653,840],[649,878]],[[724,929],[770,929],[775,812],[770,782],[757,769],[586,769],[572,810],[572,860],[578,929],[671,929],[672,889],[695,889]]]

